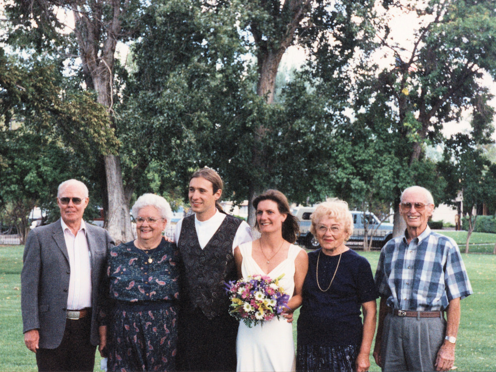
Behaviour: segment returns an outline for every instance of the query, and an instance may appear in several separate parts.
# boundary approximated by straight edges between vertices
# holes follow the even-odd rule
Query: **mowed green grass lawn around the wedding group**
[[[22,251],[21,246],[0,246],[0,371],[37,370],[35,356],[25,347],[22,336],[20,310]],[[372,271],[375,272],[379,252],[359,251],[359,253],[369,260]],[[488,254],[462,254],[462,256],[474,295],[461,302],[462,316],[456,347],[456,371],[496,371],[494,336],[496,256]],[[295,318],[297,316],[298,312],[295,313]],[[296,341],[296,321],[293,326]],[[98,353],[95,365],[95,371],[99,371]],[[380,371],[372,356],[370,371]]]

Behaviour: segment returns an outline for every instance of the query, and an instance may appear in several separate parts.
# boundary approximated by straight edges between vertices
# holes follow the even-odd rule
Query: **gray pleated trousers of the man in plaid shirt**
[[[444,342],[444,318],[416,318],[387,314],[381,353],[383,372],[435,371],[437,352]]]

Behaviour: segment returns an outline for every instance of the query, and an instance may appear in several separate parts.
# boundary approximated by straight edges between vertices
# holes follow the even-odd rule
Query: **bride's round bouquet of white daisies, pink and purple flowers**
[[[271,279],[266,275],[251,275],[226,284],[226,292],[231,300],[230,313],[243,320],[248,327],[266,320],[282,316],[288,305],[289,295],[279,286],[284,276]]]

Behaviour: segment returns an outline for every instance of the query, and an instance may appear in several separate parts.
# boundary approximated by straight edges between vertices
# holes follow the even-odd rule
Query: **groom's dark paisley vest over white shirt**
[[[181,298],[188,310],[199,308],[208,319],[227,313],[229,299],[225,283],[236,280],[233,241],[241,220],[226,215],[224,221],[201,249],[194,227],[194,214],[183,220],[178,248],[185,277]]]

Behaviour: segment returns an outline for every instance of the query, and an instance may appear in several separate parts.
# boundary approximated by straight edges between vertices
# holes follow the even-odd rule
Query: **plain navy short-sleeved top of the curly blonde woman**
[[[345,346],[362,343],[361,307],[377,299],[369,261],[350,249],[343,252],[331,287],[322,292],[316,281],[320,249],[309,253],[303,284],[303,304],[298,318],[298,345]],[[320,253],[318,283],[329,286],[339,255]]]

